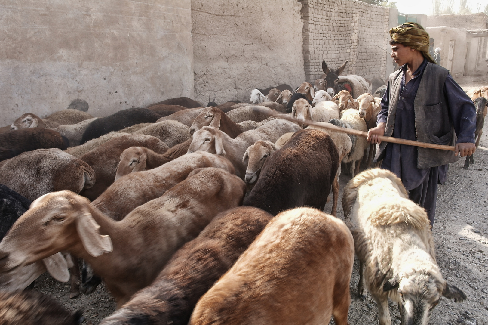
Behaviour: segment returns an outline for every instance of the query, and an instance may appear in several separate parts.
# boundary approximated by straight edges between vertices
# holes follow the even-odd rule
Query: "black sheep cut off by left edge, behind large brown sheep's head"
[[[0,240],[30,204],[29,199],[0,184]]]

